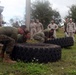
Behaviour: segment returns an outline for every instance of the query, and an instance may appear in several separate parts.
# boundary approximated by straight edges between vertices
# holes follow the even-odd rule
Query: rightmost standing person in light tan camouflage
[[[67,32],[69,37],[73,37],[73,40],[75,41],[74,39],[75,23],[72,21],[72,18],[70,18],[70,21],[67,24]]]

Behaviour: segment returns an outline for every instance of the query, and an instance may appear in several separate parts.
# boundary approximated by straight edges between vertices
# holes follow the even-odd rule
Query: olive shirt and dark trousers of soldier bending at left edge
[[[4,45],[3,53],[6,51],[7,54],[11,54],[15,41],[17,40],[17,34],[17,28],[0,27],[0,43]]]

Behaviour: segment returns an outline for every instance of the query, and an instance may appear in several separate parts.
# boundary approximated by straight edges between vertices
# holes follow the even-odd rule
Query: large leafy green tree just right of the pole
[[[52,9],[49,1],[38,0],[32,4],[31,18],[39,19],[46,27],[53,16],[59,16],[59,13]]]

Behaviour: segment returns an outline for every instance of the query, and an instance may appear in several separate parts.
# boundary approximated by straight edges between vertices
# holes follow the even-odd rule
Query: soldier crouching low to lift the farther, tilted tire
[[[54,38],[52,36],[53,34],[49,35],[49,32],[50,32],[49,29],[45,29],[43,31],[39,31],[39,32],[34,34],[33,39],[37,40],[38,42],[45,42],[48,39],[53,39]]]

